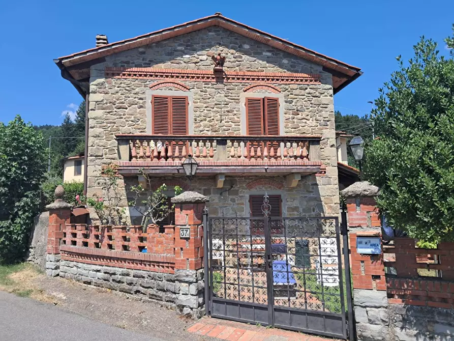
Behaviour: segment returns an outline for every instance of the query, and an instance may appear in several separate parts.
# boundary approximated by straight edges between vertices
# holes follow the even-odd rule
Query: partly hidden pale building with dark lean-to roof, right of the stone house
[[[359,181],[359,169],[349,165],[347,156],[347,138],[353,135],[347,134],[345,131],[336,131],[336,148],[338,156],[338,173],[339,173],[339,189],[344,189],[351,184]]]

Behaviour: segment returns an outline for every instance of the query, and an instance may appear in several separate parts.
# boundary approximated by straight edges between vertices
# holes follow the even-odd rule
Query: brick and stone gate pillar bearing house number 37
[[[176,305],[184,315],[204,314],[202,215],[208,197],[184,192],[171,199],[175,205],[175,281],[180,284]],[[183,231],[185,234],[181,235]],[[187,233],[186,233],[187,232]]]

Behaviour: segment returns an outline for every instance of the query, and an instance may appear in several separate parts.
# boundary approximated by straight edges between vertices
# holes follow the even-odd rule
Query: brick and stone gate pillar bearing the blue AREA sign
[[[379,189],[364,181],[354,183],[341,193],[347,201],[354,317],[358,340],[390,339],[383,252],[360,254],[356,248],[357,237],[381,237],[381,223],[375,201]]]

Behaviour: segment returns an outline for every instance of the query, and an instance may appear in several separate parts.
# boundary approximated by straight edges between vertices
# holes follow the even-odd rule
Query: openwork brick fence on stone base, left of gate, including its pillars
[[[71,209],[50,209],[46,273],[159,301],[186,316],[204,314],[204,204],[175,207],[175,225],[71,224]],[[189,238],[179,230],[187,228]]]

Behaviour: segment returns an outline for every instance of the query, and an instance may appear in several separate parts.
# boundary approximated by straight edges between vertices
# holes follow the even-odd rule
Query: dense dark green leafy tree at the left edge
[[[46,150],[41,132],[16,116],[0,123],[0,262],[21,260],[39,209]]]

